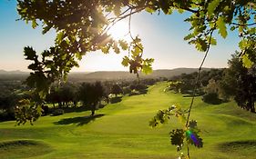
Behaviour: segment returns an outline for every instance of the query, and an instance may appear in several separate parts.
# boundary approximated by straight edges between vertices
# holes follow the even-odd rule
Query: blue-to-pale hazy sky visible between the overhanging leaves
[[[0,0],[0,69],[22,70],[29,62],[24,59],[23,48],[33,46],[41,52],[54,44],[54,31],[46,35],[41,29],[33,29],[19,18],[15,0]],[[198,67],[203,53],[188,45],[183,37],[189,33],[189,24],[183,22],[188,15],[149,15],[140,13],[132,16],[133,35],[142,38],[145,57],[155,58],[154,69]],[[230,34],[226,39],[218,38],[217,46],[210,48],[204,67],[226,67],[230,55],[238,49],[239,38]],[[125,54],[103,55],[100,52],[84,56],[80,67],[73,71],[128,70],[121,65]]]

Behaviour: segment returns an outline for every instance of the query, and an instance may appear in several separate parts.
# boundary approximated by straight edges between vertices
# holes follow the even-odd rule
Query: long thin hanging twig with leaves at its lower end
[[[210,42],[211,42],[211,36],[212,36],[215,28],[216,28],[216,25],[214,25],[214,27],[210,30]],[[193,144],[198,148],[201,148],[203,146],[202,138],[200,138],[200,129],[198,128],[198,123],[197,123],[197,121],[190,120],[189,117],[190,117],[191,110],[192,110],[192,107],[194,104],[196,90],[197,90],[198,84],[200,82],[201,68],[205,62],[207,55],[209,54],[209,51],[210,51],[210,42],[207,46],[205,55],[200,63],[200,67],[198,69],[198,75],[196,78],[196,82],[194,84],[194,89],[193,89],[189,109],[182,110],[180,107],[172,105],[167,110],[159,110],[159,113],[156,114],[151,121],[149,121],[150,126],[156,127],[159,124],[165,124],[167,122],[167,120],[170,119],[170,116],[178,117],[180,123],[183,124],[184,128],[183,129],[173,129],[169,133],[170,134],[170,143],[173,145],[176,145],[177,151],[179,152],[179,151],[181,151],[181,149],[184,145],[184,140],[186,140],[187,157],[188,158],[190,158],[189,144]],[[188,114],[187,118],[186,118],[185,114]],[[179,158],[184,158],[184,157],[185,157],[184,154],[182,154],[182,153],[179,154]]]

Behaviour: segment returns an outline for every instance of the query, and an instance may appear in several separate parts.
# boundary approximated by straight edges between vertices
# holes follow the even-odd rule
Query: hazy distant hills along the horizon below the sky
[[[210,70],[210,68],[203,68],[203,70]],[[175,69],[161,69],[154,70],[150,75],[140,74],[140,78],[159,78],[166,77],[170,78],[174,75],[190,74],[197,72],[198,68],[175,68]],[[5,71],[0,70],[0,80],[26,80],[29,75],[28,72],[22,71]],[[97,71],[93,73],[70,73],[68,75],[68,80],[73,82],[89,82],[89,81],[102,81],[102,80],[132,80],[136,79],[137,75],[130,74],[126,71]]]

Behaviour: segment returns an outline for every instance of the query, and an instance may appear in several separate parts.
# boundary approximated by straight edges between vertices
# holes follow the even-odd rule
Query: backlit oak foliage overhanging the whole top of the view
[[[255,2],[234,0],[119,0],[119,1],[71,1],[71,0],[18,0],[17,11],[20,19],[31,22],[33,28],[42,25],[42,33],[50,29],[56,31],[55,45],[42,53],[38,59],[36,51],[25,48],[26,59],[34,64],[29,68],[35,73],[30,76],[29,84],[35,85],[39,92],[46,92],[53,80],[66,77],[77,61],[87,53],[101,50],[108,54],[112,49],[117,54],[128,50],[131,56],[125,56],[122,64],[129,66],[132,73],[139,70],[151,72],[153,59],[143,59],[141,40],[132,37],[132,42],[115,41],[108,35],[109,28],[130,15],[146,11],[150,14],[163,12],[171,15],[189,12],[185,19],[191,27],[184,39],[200,51],[206,51],[207,45],[216,45],[211,32],[217,30],[225,38],[228,28],[237,30],[241,36],[240,47],[244,64],[255,62]],[[130,25],[130,24],[129,24]],[[228,27],[229,25],[229,27]],[[34,82],[33,82],[34,81]],[[43,94],[42,94],[43,95]]]

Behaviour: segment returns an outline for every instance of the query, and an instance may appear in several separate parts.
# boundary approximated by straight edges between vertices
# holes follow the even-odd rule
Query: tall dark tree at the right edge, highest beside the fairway
[[[233,96],[242,108],[255,113],[256,70],[255,65],[246,68],[242,65],[238,53],[229,61],[229,68],[220,82],[220,88],[226,96]]]

